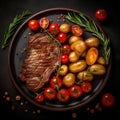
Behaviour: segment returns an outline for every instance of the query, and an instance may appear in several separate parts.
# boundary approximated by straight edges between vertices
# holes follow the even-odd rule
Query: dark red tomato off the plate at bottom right
[[[102,104],[105,107],[112,107],[115,103],[115,98],[111,93],[105,93],[102,96]]]

